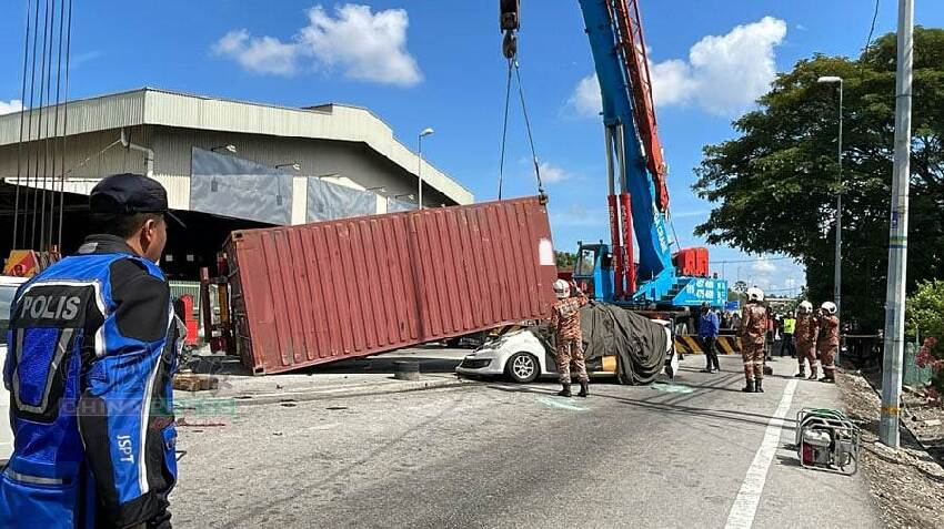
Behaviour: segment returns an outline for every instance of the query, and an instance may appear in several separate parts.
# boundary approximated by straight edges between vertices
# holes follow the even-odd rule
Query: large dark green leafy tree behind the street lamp
[[[944,30],[915,28],[908,291],[944,267]],[[715,206],[695,228],[711,244],[783,252],[806,266],[811,302],[832,299],[835,196],[843,193],[843,313],[884,321],[892,182],[895,35],[856,60],[816,54],[780,74],[739,136],[704,147],[695,192]],[[844,80],[843,184],[836,88]]]

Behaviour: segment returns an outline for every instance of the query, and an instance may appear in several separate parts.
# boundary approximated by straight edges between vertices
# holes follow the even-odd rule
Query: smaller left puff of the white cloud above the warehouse
[[[250,37],[244,29],[224,34],[212,48],[213,53],[235,60],[253,73],[291,75],[295,73],[298,44],[284,43],[273,37]]]

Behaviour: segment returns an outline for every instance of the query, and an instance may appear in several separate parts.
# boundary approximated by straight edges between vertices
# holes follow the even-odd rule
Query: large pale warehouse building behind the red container
[[[420,182],[425,207],[473,201],[469,190],[356,106],[293,109],[145,88],[30,114],[22,134],[19,113],[0,116],[0,218],[10,226],[0,233],[3,255],[13,245],[17,202],[18,224],[29,240],[22,227],[36,222],[22,216],[23,204],[42,204],[40,196],[51,204],[52,190],[60,189],[62,248],[74,251],[87,225],[86,195],[101,176],[121,172],[160,181],[171,208],[188,224],[171,228],[163,263],[180,276],[212,262],[232,230],[415,208]],[[46,141],[57,136],[56,123],[64,134]],[[52,161],[51,153],[64,154]]]

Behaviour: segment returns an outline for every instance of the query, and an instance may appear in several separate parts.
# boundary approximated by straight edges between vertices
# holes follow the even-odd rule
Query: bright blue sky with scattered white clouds
[[[916,3],[916,23],[944,26],[944,2]],[[591,52],[575,0],[522,4],[524,88],[538,154],[551,180],[555,244],[570,250],[578,240],[607,237]],[[150,85],[284,105],[363,105],[410,145],[420,130],[434,128],[435,135],[424,142],[429,160],[478,200],[495,197],[505,75],[496,0],[74,6],[72,98]],[[702,146],[732,138],[731,120],[750,108],[776,71],[815,52],[857,55],[873,6],[871,0],[642,2],[683,246],[702,244],[692,228],[711,208],[690,190]],[[8,2],[0,18],[0,71],[6,72],[0,110],[20,96],[24,7],[23,0]],[[876,35],[894,29],[896,9],[897,2],[881,0]],[[513,110],[506,196],[535,190],[520,116]],[[746,258],[753,256],[712,248],[713,261]],[[790,261],[714,268],[732,281],[769,288],[804,282],[803,271]]]

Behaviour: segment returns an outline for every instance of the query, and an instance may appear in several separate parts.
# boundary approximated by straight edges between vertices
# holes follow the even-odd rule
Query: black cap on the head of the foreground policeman
[[[143,174],[112,174],[102,179],[89,194],[89,208],[99,215],[161,213],[185,225],[168,206],[168,193],[158,181]]]

